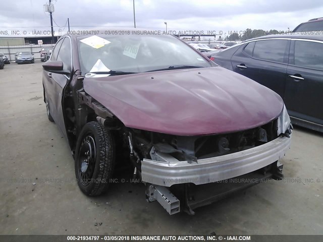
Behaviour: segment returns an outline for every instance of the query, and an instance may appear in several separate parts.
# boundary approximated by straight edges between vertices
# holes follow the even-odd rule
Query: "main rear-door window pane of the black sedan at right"
[[[272,62],[284,62],[284,54],[288,40],[259,40],[253,49],[253,57]]]

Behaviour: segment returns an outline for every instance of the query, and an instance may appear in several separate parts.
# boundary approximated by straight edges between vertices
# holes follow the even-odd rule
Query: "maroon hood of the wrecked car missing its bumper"
[[[126,127],[194,136],[255,128],[277,118],[274,91],[221,67],[84,78],[84,90]]]

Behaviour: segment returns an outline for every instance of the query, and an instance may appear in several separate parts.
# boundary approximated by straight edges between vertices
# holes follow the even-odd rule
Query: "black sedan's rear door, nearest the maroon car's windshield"
[[[231,58],[233,71],[284,98],[289,45],[287,39],[260,39],[246,43]]]

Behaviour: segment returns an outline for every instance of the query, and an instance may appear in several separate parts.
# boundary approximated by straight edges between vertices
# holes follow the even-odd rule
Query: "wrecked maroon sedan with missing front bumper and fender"
[[[147,201],[194,214],[282,177],[292,126],[278,94],[174,36],[127,33],[65,35],[43,64],[48,119],[83,193],[105,193],[126,161]]]

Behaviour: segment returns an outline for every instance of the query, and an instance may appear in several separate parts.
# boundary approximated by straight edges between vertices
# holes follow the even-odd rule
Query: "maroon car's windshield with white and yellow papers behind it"
[[[104,35],[77,39],[83,74],[211,67],[203,56],[171,35]]]

